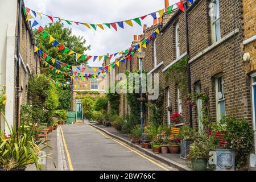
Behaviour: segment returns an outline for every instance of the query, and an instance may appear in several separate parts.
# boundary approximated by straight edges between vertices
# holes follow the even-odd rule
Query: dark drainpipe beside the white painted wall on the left
[[[19,128],[19,65],[20,65],[20,56],[19,56],[19,45],[20,45],[20,19],[21,19],[21,11],[22,11],[22,0],[18,0],[19,2],[19,16],[18,16],[18,42],[17,42],[17,70],[16,70],[16,129]]]

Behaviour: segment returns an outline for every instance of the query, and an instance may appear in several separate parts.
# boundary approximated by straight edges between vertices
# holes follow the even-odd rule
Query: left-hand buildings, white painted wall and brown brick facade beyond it
[[[26,22],[24,15],[24,2],[22,1],[22,12],[20,19],[20,46],[19,46],[19,87],[16,87],[16,70],[18,59],[18,1],[2,2],[5,6],[1,6],[1,23],[0,30],[0,72],[1,85],[6,85],[6,119],[10,126],[15,125],[16,111],[20,112],[20,105],[27,103],[27,83],[30,73],[40,72],[38,57],[34,53],[36,41],[32,34],[31,24]],[[19,94],[16,92],[19,90]],[[19,98],[19,104],[16,98]],[[18,108],[17,108],[18,107]],[[2,119],[3,121],[3,119]],[[1,122],[1,129],[9,130],[5,122]]]

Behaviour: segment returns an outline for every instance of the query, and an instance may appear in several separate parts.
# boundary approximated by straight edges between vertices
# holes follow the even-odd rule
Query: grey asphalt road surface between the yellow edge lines
[[[61,126],[74,171],[172,170],[152,158],[136,154],[88,125]],[[143,154],[144,156],[144,154]],[[150,160],[148,160],[150,159]]]

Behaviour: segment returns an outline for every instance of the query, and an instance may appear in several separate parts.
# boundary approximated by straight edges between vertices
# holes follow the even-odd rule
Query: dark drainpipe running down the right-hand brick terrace
[[[187,55],[188,55],[188,67],[187,67],[187,74],[188,74],[188,93],[192,93],[191,89],[191,71],[190,71],[190,52],[189,52],[189,36],[188,36],[188,1],[184,1],[184,10],[185,10],[185,29],[186,29],[186,42],[187,42]],[[192,121],[192,106],[189,105],[189,125],[190,127],[193,127],[193,121]]]

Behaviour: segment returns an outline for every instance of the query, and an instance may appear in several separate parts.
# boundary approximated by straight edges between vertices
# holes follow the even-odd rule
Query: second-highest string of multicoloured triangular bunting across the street
[[[36,22],[36,20],[34,20],[34,23],[32,24],[32,27],[34,27],[35,24],[37,23],[37,22],[36,22],[36,23],[35,23],[35,22]],[[127,54],[127,52],[129,51],[129,49],[126,49],[125,51],[119,51],[119,52],[117,52],[117,53],[112,53],[112,54],[110,54],[110,55],[103,55],[103,56],[83,55],[83,54],[77,53],[77,52],[75,52],[75,51],[73,51],[73,50],[71,50],[71,49],[65,47],[62,43],[60,43],[60,42],[57,41],[55,38],[53,38],[53,36],[50,35],[46,30],[44,30],[44,28],[43,28],[42,26],[39,26],[39,28],[38,28],[38,33],[40,33],[41,31],[44,31],[44,33],[43,33],[43,39],[46,39],[46,38],[49,37],[49,44],[51,44],[52,47],[55,47],[55,46],[58,46],[58,45],[59,45],[59,51],[63,51],[63,54],[72,55],[73,53],[75,53],[75,54],[76,54],[76,60],[81,59],[81,61],[82,61],[82,60],[84,60],[84,59],[87,59],[87,61],[89,61],[90,59],[93,58],[93,62],[94,62],[94,61],[96,61],[96,60],[101,61],[102,58],[104,58],[104,61],[105,61],[106,59],[108,59],[108,57],[109,57],[109,59],[111,60],[113,57],[122,55],[122,53]],[[159,34],[159,29],[156,29],[155,32],[153,32],[152,34],[155,34],[155,33],[158,33],[158,34]],[[145,46],[146,46],[143,41],[141,41],[141,42],[138,43],[138,44],[135,44],[135,46],[140,45],[141,43],[143,43],[143,44],[142,44],[140,47],[145,47]]]

